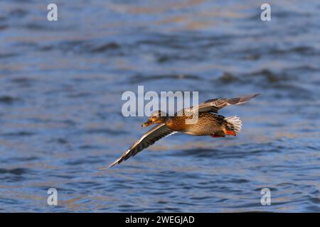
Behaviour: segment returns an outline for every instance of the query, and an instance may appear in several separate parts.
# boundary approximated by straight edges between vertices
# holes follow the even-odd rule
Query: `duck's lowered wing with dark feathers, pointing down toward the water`
[[[112,162],[112,164],[109,167],[112,167],[114,165],[119,164],[120,162],[123,162],[124,160],[127,160],[129,157],[132,157],[134,155],[137,155],[140,151],[144,150],[144,148],[148,148],[150,145],[154,144],[157,140],[160,140],[161,138],[164,138],[167,135],[170,135],[171,133],[175,133],[170,128],[166,126],[165,123],[159,123],[159,125],[154,126],[154,128],[151,128],[149,131],[144,133],[139,140],[132,145],[131,148],[129,148],[121,157],[119,157],[117,160]],[[103,170],[104,168],[100,168],[100,170]]]

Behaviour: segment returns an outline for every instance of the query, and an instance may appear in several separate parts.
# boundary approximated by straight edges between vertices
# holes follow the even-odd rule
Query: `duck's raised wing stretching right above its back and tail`
[[[198,110],[199,112],[218,113],[218,110],[225,106],[244,104],[245,102],[250,101],[256,96],[260,96],[260,94],[248,94],[232,99],[209,99],[207,101],[203,101],[203,103],[199,104],[198,106],[194,106],[186,110],[191,112]]]

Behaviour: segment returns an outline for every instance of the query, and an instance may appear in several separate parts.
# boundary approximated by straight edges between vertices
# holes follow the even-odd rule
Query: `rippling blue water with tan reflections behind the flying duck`
[[[320,211],[319,1],[0,2],[0,211]],[[147,3],[148,2],[148,3]],[[261,92],[236,138],[134,143],[124,91]],[[58,206],[47,190],[58,189]],[[270,188],[272,205],[260,204]]]

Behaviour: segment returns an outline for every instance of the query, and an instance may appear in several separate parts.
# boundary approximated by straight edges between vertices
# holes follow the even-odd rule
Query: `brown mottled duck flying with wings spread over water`
[[[148,120],[142,124],[147,127],[156,124],[149,131],[144,133],[134,145],[132,145],[123,155],[112,162],[108,167],[118,165],[129,157],[137,155],[145,148],[153,145],[157,140],[174,133],[184,133],[188,135],[203,136],[212,138],[225,136],[236,136],[241,131],[242,121],[238,116],[225,117],[218,114],[218,111],[225,106],[244,104],[261,94],[248,94],[231,99],[208,99],[197,106],[191,106],[181,111],[177,111],[174,116],[169,116],[164,111],[154,111]],[[186,120],[193,118],[197,114],[197,121],[186,123]],[[104,170],[106,167],[100,168]]]

